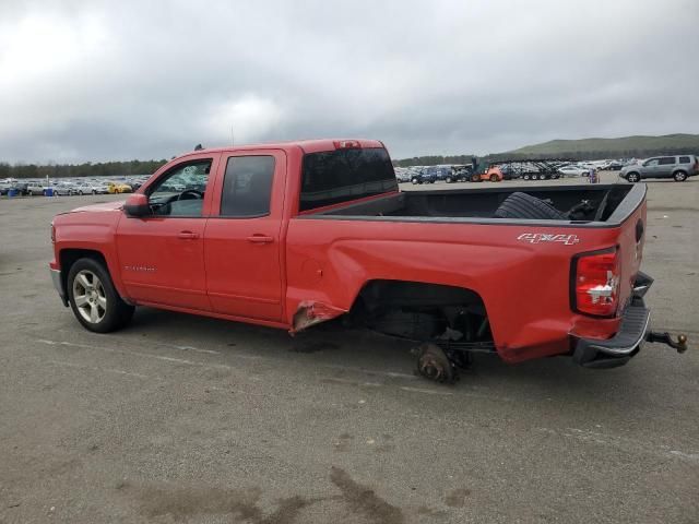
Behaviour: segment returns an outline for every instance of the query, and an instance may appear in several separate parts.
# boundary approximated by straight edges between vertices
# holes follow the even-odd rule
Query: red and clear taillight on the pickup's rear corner
[[[614,317],[619,297],[619,257],[616,248],[580,253],[572,260],[571,306],[593,317]]]

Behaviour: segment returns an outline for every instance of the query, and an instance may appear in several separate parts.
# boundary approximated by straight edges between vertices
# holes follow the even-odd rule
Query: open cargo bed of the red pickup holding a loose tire
[[[564,213],[582,201],[589,201],[592,206],[584,219],[543,221],[542,225],[616,226],[621,224],[642,203],[645,187],[643,184],[585,184],[402,191],[374,200],[308,213],[304,217],[482,224],[541,222],[494,217],[496,210],[505,199],[516,191],[547,201]],[[599,219],[594,221],[592,217],[603,202],[604,210]]]

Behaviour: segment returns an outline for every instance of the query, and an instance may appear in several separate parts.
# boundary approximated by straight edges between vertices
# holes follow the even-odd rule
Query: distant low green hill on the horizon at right
[[[620,139],[552,140],[507,154],[523,156],[572,156],[577,158],[642,157],[674,153],[699,153],[699,134],[623,136]]]

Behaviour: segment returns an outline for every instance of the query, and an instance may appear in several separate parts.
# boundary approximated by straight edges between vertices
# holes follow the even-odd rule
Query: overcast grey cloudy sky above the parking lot
[[[0,162],[699,132],[697,0],[0,0]]]

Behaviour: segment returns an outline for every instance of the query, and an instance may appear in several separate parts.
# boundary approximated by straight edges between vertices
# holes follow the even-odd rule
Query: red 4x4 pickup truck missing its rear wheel
[[[383,144],[197,151],[125,202],[54,219],[54,283],[87,330],[149,306],[281,327],[344,315],[420,343],[451,380],[474,352],[626,364],[653,334],[645,186],[398,189]]]

